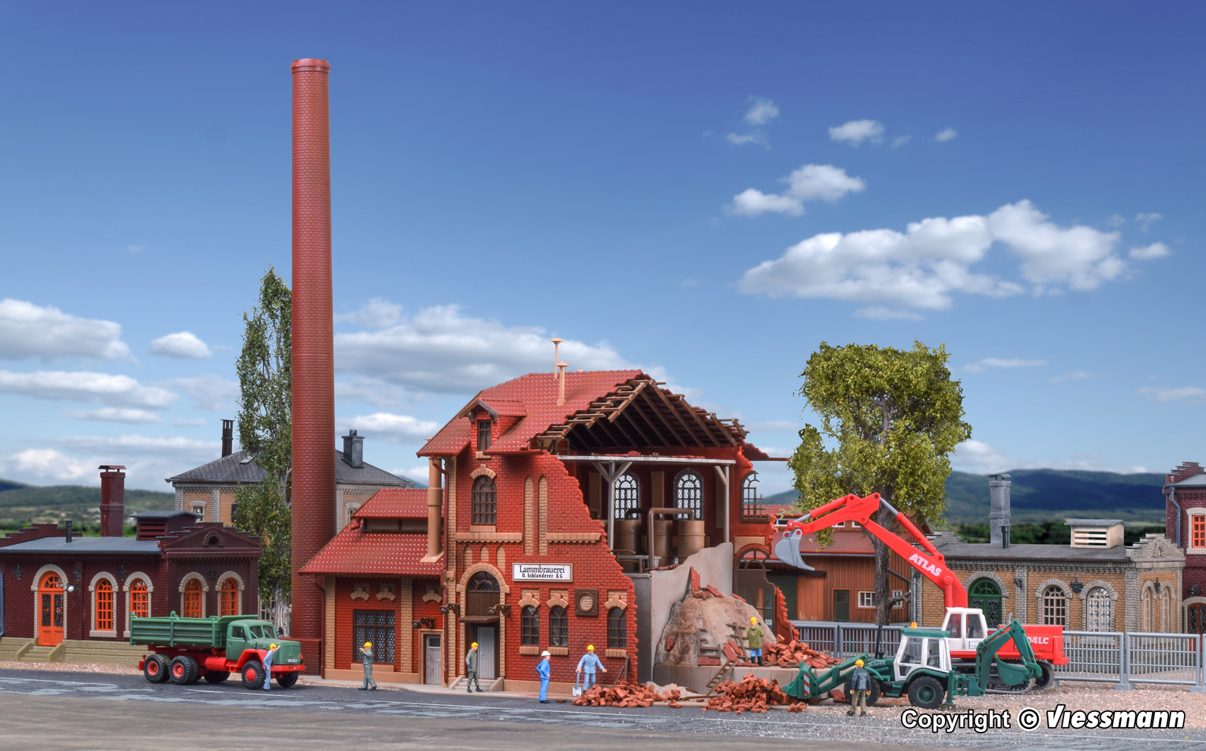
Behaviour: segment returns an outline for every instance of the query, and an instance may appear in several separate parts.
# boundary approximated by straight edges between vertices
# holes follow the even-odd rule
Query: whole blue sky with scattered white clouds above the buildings
[[[218,453],[332,63],[336,423],[640,366],[796,444],[820,341],[946,344],[968,471],[1202,459],[1189,5],[6,4],[0,476]],[[763,473],[767,491],[786,473]]]

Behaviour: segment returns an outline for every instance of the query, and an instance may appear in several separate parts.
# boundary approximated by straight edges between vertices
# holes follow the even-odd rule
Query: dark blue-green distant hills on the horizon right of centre
[[[1164,475],[1094,473],[1061,469],[1017,469],[1008,473],[1011,521],[1050,522],[1069,517],[1108,517],[1128,522],[1164,522]],[[4,494],[0,493],[0,498]],[[790,504],[795,491],[768,495],[763,503]],[[947,479],[947,523],[988,523],[988,477],[950,473]]]

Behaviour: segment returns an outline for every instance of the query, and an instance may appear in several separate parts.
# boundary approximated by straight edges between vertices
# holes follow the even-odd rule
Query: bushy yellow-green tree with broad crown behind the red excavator
[[[939,521],[950,453],[972,435],[962,421],[962,388],[950,379],[946,346],[912,350],[873,345],[831,347],[821,342],[808,358],[797,395],[820,418],[806,424],[789,467],[804,510],[848,493],[879,493],[914,521]],[[880,507],[874,521],[895,527]],[[821,533],[829,544],[829,530]],[[886,624],[903,597],[889,597],[889,548],[876,551],[876,622]]]

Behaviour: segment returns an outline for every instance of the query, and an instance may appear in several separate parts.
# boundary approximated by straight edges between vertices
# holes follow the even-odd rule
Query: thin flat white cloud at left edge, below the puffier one
[[[123,375],[77,370],[39,370],[10,372],[0,370],[0,393],[39,399],[103,401],[113,406],[158,410],[176,400],[176,394],[157,386],[142,386]]]

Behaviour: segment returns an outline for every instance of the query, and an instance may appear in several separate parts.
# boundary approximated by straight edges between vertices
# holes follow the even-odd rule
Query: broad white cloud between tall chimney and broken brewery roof
[[[336,334],[335,369],[422,392],[473,393],[526,372],[551,374],[548,340],[543,328],[509,327],[441,305],[376,330]],[[633,366],[607,342],[568,339],[561,358],[570,370]]]

